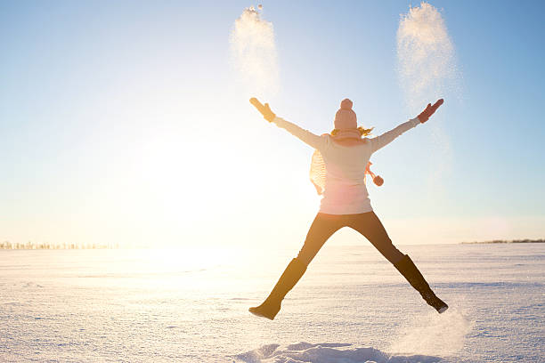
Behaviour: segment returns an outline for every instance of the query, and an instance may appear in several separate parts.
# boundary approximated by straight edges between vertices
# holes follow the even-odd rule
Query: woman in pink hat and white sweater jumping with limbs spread
[[[409,255],[401,253],[392,244],[377,214],[373,212],[364,181],[366,169],[369,173],[370,156],[394,141],[405,131],[425,123],[443,104],[443,99],[436,101],[433,106],[428,104],[418,117],[375,138],[362,137],[369,134],[370,129],[358,127],[356,115],[352,109],[352,101],[348,99],[341,102],[340,109],[335,115],[335,129],[331,133],[321,136],[310,133],[281,117],[276,117],[268,103],[263,106],[255,98],[250,102],[256,106],[256,109],[263,114],[267,121],[286,129],[313,147],[316,150],[314,155],[319,153],[318,159],[325,166],[325,175],[320,211],[316,214],[310,230],[308,230],[305,244],[297,257],[289,262],[288,267],[264,303],[249,308],[249,311],[259,317],[274,319],[281,309],[282,300],[305,274],[306,267],[313,261],[321,246],[333,233],[343,227],[357,230],[369,239],[378,252],[386,257],[386,260],[391,262],[395,269],[399,270],[411,286],[422,295],[426,303],[439,313],[446,311],[448,305],[435,296]],[[313,157],[313,161],[314,159],[315,157]],[[320,185],[314,184],[321,193]]]

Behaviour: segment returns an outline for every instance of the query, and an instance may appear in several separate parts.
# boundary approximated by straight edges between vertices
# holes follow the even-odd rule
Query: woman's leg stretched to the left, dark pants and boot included
[[[299,251],[297,258],[289,262],[288,267],[282,273],[281,278],[273,287],[273,291],[259,306],[249,308],[248,311],[259,317],[273,320],[281,310],[281,303],[286,294],[296,286],[297,281],[303,277],[306,266],[313,260],[321,246],[328,238],[342,227],[339,216],[331,214],[318,214],[308,230],[305,245]]]

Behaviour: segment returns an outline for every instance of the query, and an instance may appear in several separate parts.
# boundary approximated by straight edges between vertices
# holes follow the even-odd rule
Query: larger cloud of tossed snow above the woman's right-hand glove
[[[411,7],[397,29],[401,86],[412,113],[456,88],[458,69],[441,12],[427,3]]]

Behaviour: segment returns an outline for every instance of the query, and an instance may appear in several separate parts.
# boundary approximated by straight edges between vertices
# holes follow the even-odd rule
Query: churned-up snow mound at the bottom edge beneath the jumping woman
[[[350,343],[266,344],[234,357],[245,363],[432,363],[439,357],[412,355],[391,356],[375,348],[354,348]]]

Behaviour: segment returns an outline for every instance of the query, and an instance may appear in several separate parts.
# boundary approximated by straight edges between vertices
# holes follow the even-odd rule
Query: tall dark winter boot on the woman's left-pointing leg
[[[273,320],[278,311],[281,310],[282,300],[289,293],[289,290],[297,284],[299,278],[305,274],[305,270],[305,263],[300,262],[297,258],[291,260],[264,303],[254,308],[249,308],[248,311],[258,317]]]

